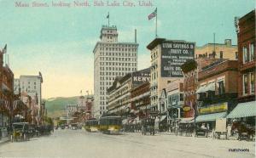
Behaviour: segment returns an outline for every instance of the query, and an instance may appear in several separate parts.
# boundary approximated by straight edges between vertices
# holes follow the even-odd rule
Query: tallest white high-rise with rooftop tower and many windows
[[[119,42],[116,26],[102,25],[101,41],[96,42],[94,54],[94,116],[107,111],[107,89],[116,76],[137,71],[137,40]]]

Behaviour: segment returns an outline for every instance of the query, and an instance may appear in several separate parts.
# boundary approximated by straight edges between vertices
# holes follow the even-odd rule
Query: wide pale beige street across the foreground
[[[231,152],[232,149],[248,151]],[[255,157],[255,143],[192,138],[166,133],[106,135],[83,130],[55,130],[27,142],[0,144],[0,157]]]

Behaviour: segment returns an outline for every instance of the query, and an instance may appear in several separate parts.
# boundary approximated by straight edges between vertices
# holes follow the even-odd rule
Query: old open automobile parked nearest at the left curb
[[[11,142],[29,140],[29,124],[28,122],[15,122],[12,124],[12,133],[10,134]]]

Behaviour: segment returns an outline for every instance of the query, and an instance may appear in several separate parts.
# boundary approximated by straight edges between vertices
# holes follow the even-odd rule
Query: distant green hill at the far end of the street
[[[77,104],[79,97],[57,97],[45,100],[45,107],[49,117],[59,117],[66,114],[67,104]]]

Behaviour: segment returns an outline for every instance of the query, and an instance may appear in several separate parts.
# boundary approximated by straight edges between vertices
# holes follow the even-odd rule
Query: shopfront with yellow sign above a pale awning
[[[199,116],[195,118],[195,122],[199,126],[204,123],[209,130],[215,129],[216,120],[227,116],[227,110],[227,102],[201,107],[199,109]]]

